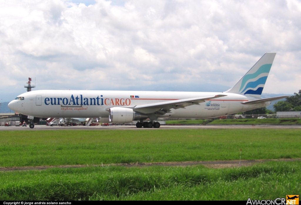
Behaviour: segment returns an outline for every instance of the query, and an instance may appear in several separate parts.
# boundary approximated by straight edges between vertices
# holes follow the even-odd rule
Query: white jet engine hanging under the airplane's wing
[[[133,120],[147,119],[147,117],[147,115],[127,107],[112,107],[109,110],[109,120],[111,123],[130,123]]]

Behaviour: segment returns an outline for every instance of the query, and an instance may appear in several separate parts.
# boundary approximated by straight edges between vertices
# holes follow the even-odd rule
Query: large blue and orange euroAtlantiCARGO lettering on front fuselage
[[[103,95],[99,95],[96,98],[83,98],[82,95],[76,95],[74,98],[71,95],[70,98],[45,98],[45,105],[130,105],[131,99],[129,98],[102,98]]]

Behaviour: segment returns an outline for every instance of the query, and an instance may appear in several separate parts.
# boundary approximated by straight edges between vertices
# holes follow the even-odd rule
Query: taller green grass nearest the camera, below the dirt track
[[[253,200],[301,191],[301,162],[0,172],[1,200]]]

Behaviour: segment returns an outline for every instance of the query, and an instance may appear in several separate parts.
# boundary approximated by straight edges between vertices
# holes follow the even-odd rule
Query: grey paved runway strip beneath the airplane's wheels
[[[300,129],[301,125],[161,125],[158,129]],[[156,128],[136,128],[135,125],[117,125],[117,126],[46,126],[46,125],[35,125],[33,129],[29,126],[1,126],[0,131],[10,130],[65,130],[65,129],[80,129],[80,130],[104,130],[104,129],[147,129],[152,130]]]

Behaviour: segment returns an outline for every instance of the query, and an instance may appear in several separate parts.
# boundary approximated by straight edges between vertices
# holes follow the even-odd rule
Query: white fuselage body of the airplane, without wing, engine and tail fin
[[[35,117],[108,118],[111,107],[135,107],[136,105],[162,101],[220,95],[217,92],[154,92],[154,91],[86,91],[86,90],[37,90],[26,92],[13,100],[9,107],[21,114]],[[226,93],[227,96],[206,100],[185,108],[171,109],[159,117],[212,118],[265,107],[269,102],[241,104],[249,101],[244,95]],[[18,96],[18,97],[19,97]]]

